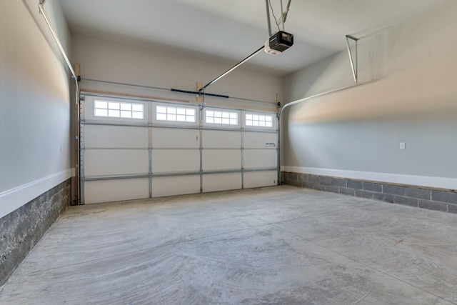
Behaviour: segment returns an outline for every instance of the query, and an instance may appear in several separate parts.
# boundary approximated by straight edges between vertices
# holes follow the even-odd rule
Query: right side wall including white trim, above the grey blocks
[[[286,111],[286,169],[457,189],[457,3],[359,41],[361,86]],[[288,101],[353,84],[346,51],[286,76]],[[400,142],[406,149],[399,149]]]

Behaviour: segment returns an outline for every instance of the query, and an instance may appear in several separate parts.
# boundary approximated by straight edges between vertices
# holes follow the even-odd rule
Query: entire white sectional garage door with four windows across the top
[[[81,102],[81,202],[273,186],[276,113],[104,94]]]

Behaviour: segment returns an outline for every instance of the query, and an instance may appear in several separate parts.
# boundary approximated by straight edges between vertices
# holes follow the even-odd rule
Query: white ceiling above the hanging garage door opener
[[[72,34],[214,61],[228,68],[268,38],[263,0],[60,1]],[[276,17],[281,16],[281,0],[270,1]],[[293,34],[294,45],[278,56],[261,52],[246,67],[290,74],[345,49],[346,34],[367,34],[449,1],[291,0],[285,30]],[[273,16],[271,24],[274,33],[278,28]]]

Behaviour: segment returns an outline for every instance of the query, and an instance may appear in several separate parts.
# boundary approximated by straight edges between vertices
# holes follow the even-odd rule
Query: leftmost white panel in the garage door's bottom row
[[[85,181],[84,197],[86,204],[148,198],[149,179]]]

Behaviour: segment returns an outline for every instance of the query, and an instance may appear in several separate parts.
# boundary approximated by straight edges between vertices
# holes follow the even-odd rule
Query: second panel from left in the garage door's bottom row
[[[152,196],[163,197],[200,192],[200,176],[154,177]]]

